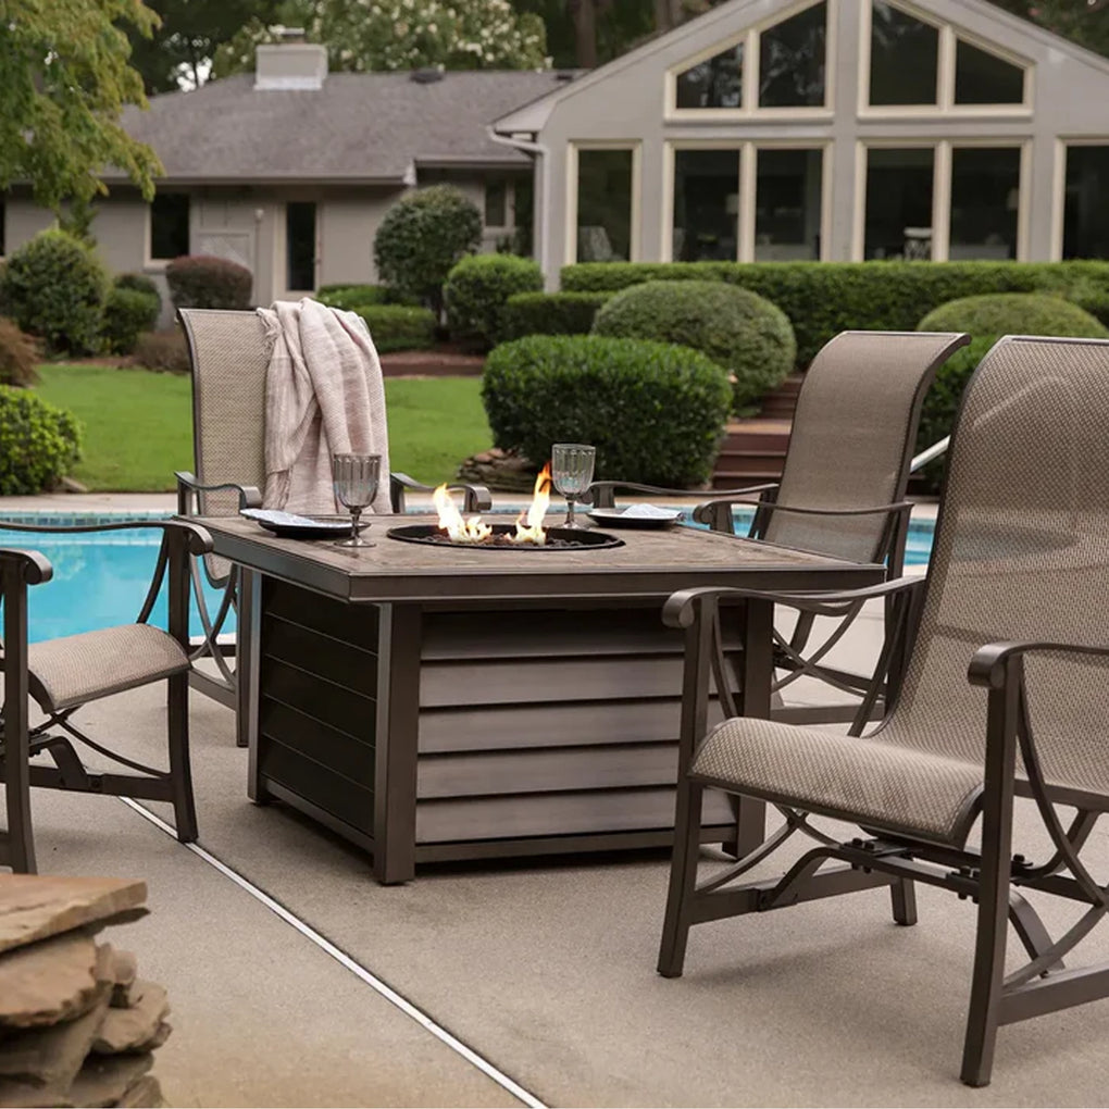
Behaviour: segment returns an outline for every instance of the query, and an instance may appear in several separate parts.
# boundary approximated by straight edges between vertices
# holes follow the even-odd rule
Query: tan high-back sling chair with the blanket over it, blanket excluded
[[[181,516],[234,516],[241,508],[262,505],[265,486],[266,346],[262,321],[253,312],[182,308],[179,312],[193,370],[193,456],[195,474],[179,472],[177,512]],[[406,474],[381,475],[388,481],[394,512],[405,510],[405,492],[430,491]],[[456,485],[464,510],[490,507],[482,486]],[[208,582],[223,590],[212,613],[200,588],[201,567],[194,563],[197,606],[204,629],[194,644],[194,661],[211,658],[215,672],[194,670],[193,685],[224,704],[233,705],[235,648],[222,629],[237,603],[237,570],[225,559],[203,560]]]

